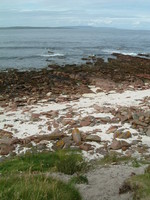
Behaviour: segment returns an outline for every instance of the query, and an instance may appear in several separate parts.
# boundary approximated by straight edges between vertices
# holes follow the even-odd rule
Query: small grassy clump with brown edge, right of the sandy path
[[[123,190],[122,188],[126,190]],[[132,176],[127,181],[125,181],[122,188],[121,188],[121,191],[123,192],[132,191],[134,200],[149,200],[150,199],[150,165],[145,170],[144,174]]]

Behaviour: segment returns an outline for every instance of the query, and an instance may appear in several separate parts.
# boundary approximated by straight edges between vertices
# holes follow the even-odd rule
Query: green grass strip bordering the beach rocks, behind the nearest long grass
[[[74,174],[85,168],[82,155],[75,151],[57,151],[34,153],[18,156],[0,163],[1,174],[22,172],[59,171],[65,174]]]

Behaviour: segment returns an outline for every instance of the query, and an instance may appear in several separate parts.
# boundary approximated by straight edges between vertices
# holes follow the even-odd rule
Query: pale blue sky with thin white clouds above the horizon
[[[9,26],[150,30],[150,0],[0,0],[0,27]]]

